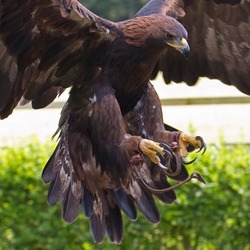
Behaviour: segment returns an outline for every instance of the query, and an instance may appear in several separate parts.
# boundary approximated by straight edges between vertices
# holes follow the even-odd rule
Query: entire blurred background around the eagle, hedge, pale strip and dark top
[[[147,0],[81,1],[96,14],[124,20]],[[60,204],[49,207],[41,172],[53,153],[63,94],[48,108],[18,107],[0,121],[0,250],[5,249],[250,249],[250,97],[218,81],[201,79],[195,87],[153,84],[163,104],[164,121],[195,132],[209,144],[189,172],[207,185],[189,183],[176,190],[177,201],[157,201],[161,222],[151,225],[139,213],[124,216],[124,241],[113,246],[92,242],[88,221],[61,219]],[[195,157],[192,155],[191,157]]]

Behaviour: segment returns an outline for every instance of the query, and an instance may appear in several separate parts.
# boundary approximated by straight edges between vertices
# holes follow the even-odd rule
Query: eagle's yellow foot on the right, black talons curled
[[[198,152],[206,151],[206,144],[200,136],[193,136],[186,133],[181,133],[179,137],[179,154],[182,157],[186,157],[189,151],[199,149]]]

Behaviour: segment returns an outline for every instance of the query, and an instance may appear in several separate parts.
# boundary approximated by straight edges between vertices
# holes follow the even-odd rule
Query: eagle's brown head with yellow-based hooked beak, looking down
[[[176,19],[159,14],[140,16],[120,23],[125,40],[137,47],[171,46],[188,56],[187,31]]]

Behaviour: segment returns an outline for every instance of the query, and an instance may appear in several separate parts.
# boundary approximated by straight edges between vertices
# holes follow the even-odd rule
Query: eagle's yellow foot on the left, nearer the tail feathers
[[[162,165],[160,157],[163,157],[165,154],[174,157],[171,148],[163,143],[157,143],[151,140],[142,139],[140,141],[139,148],[141,152],[147,155],[153,163],[159,165],[164,169],[168,168]]]

